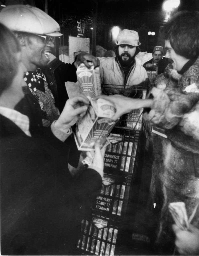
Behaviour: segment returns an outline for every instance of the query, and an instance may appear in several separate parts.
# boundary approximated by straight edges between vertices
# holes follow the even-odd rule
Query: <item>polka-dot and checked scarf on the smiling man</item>
[[[34,72],[27,71],[24,81],[40,105],[43,126],[48,127],[54,120],[59,118],[60,113],[54,104],[54,97],[48,88],[45,74],[40,68],[37,68]]]

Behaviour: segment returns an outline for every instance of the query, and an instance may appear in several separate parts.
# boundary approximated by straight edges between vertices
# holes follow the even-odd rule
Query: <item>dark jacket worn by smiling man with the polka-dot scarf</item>
[[[47,78],[49,89],[52,91],[55,105],[62,112],[65,102],[68,100],[68,94],[65,87],[66,81],[76,82],[76,68],[70,63],[61,62],[58,59],[52,60],[49,65],[42,70]],[[42,111],[39,102],[31,93],[28,86],[23,87],[24,98],[15,106],[15,110],[27,115],[30,120],[30,133],[32,136],[48,136],[48,129],[42,125]],[[77,167],[80,152],[76,148],[74,139],[71,136],[67,138],[68,146],[71,148],[69,163]]]

